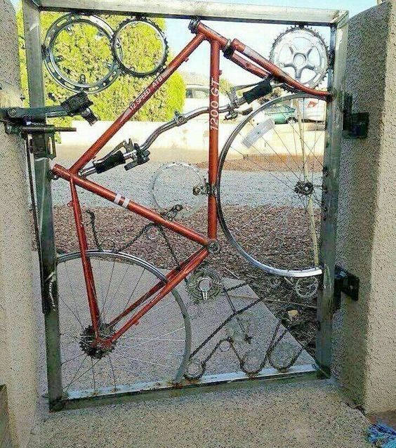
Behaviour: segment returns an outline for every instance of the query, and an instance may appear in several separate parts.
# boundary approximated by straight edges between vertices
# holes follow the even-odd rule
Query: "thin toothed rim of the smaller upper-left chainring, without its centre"
[[[121,44],[121,32],[123,32],[128,27],[136,27],[137,25],[141,24],[144,24],[147,27],[150,27],[152,30],[154,30],[154,33],[157,39],[161,42],[162,46],[161,58],[157,60],[157,63],[154,66],[154,68],[152,68],[152,70],[147,71],[139,71],[136,70],[136,67],[131,66],[128,67],[128,65],[126,65],[126,62],[124,62],[122,58],[123,53]],[[121,67],[121,70],[137,78],[150,77],[152,74],[160,72],[164,68],[166,59],[168,58],[168,51],[169,51],[168,42],[166,41],[166,37],[164,36],[164,33],[162,32],[161,28],[159,28],[159,26],[156,23],[146,18],[128,18],[127,20],[124,20],[124,22],[122,22],[119,25],[112,39],[112,52],[114,60],[117,61],[119,67]]]

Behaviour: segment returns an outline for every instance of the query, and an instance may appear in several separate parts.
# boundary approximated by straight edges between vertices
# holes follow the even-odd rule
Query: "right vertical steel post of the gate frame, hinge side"
[[[326,371],[331,371],[331,327],[334,312],[334,265],[336,263],[336,226],[338,203],[338,168],[343,127],[343,85],[348,40],[348,14],[331,29],[330,51],[334,55],[334,68],[329,72],[329,88],[334,100],[327,105],[324,151],[323,213],[321,223],[320,254],[323,266],[323,290],[317,307],[316,357]]]

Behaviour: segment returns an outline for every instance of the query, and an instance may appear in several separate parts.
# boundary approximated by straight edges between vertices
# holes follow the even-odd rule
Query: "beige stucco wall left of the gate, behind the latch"
[[[20,86],[15,11],[0,0],[0,83]],[[37,329],[24,149],[0,124],[0,384],[15,447],[25,447],[37,402]]]

